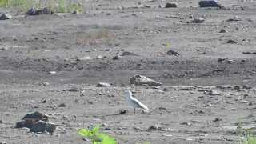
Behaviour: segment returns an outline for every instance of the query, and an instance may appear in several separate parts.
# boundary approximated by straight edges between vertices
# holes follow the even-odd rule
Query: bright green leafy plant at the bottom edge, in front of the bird
[[[98,130],[99,126],[94,126],[93,130],[78,129],[78,132],[82,136],[89,137],[92,144],[116,144],[118,142],[116,138],[110,137],[103,133],[99,133]]]

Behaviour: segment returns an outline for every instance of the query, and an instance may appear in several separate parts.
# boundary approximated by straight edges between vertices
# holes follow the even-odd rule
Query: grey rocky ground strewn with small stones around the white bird
[[[0,8],[12,16],[0,21],[0,143],[90,143],[76,128],[94,125],[119,143],[241,142],[237,126],[256,123],[256,2],[166,2],[88,1],[82,14],[37,16]],[[162,86],[131,86],[134,74]],[[150,113],[119,114],[133,112],[127,87]],[[15,128],[35,111],[53,134]]]

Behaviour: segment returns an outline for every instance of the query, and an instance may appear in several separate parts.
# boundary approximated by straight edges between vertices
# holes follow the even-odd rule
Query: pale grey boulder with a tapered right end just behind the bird
[[[135,74],[130,78],[130,84],[134,84],[136,86],[148,85],[148,86],[161,86],[162,83],[156,82],[153,79],[146,78],[143,75]]]

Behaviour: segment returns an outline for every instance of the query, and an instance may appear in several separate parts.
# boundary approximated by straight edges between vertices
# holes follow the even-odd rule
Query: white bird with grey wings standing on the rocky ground
[[[134,114],[135,114],[136,107],[145,109],[145,110],[149,110],[149,108],[147,108],[142,102],[139,102],[138,99],[132,97],[132,93],[129,90],[126,90],[125,94],[126,94],[126,102],[130,106],[134,107]]]

